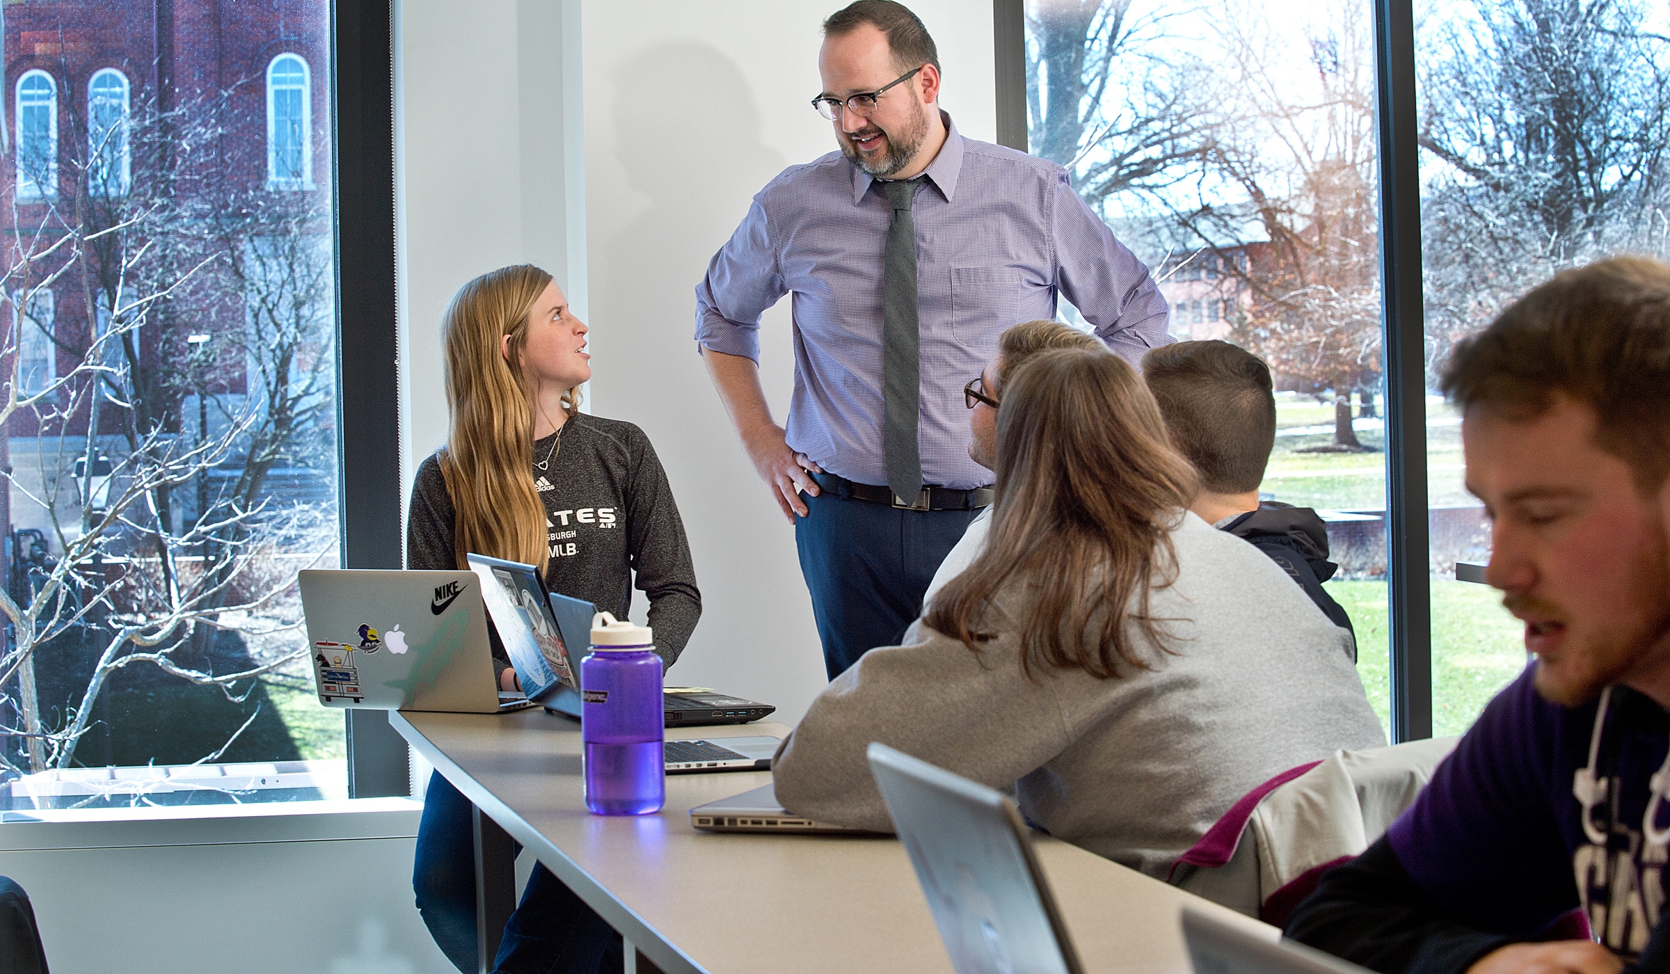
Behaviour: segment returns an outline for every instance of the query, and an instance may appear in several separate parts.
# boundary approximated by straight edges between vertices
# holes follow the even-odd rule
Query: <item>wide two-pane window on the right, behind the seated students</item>
[[[1490,525],[1463,484],[1440,373],[1460,339],[1565,267],[1670,259],[1670,8],[1024,8],[1030,150],[1067,165],[1156,269],[1177,337],[1271,363],[1283,429],[1263,491],[1328,521],[1341,565],[1328,588],[1356,623],[1369,697],[1384,715],[1389,685],[1401,737],[1466,730],[1526,655],[1500,593],[1456,575],[1488,561]],[[1408,149],[1381,160],[1388,137]],[[1420,194],[1418,224],[1394,211],[1403,222],[1379,226],[1376,172]],[[1416,232],[1418,251],[1401,246]]]

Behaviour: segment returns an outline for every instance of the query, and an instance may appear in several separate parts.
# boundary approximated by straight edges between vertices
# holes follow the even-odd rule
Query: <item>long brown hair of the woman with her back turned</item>
[[[1106,351],[1039,353],[1002,396],[992,533],[924,621],[979,652],[997,637],[997,596],[1022,583],[1025,618],[1009,625],[1029,677],[1151,668],[1131,630],[1166,648],[1149,591],[1176,580],[1169,528],[1194,498],[1194,468],[1172,449],[1142,376]]]

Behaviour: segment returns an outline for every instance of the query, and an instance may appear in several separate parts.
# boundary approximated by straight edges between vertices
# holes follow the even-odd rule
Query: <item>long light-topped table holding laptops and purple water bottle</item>
[[[511,907],[508,834],[621,932],[628,971],[636,956],[668,974],[950,971],[895,839],[691,829],[691,807],[770,772],[670,775],[661,814],[591,815],[579,723],[566,717],[397,712],[391,723],[478,807],[486,962]],[[770,720],[668,728],[670,740],[787,733]],[[1040,837],[1037,854],[1086,971],[1186,974],[1184,902],[1269,931],[1065,842]]]

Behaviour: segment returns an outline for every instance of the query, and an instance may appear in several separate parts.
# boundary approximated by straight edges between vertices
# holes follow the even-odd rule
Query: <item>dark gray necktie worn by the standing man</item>
[[[882,256],[882,458],[887,486],[905,503],[922,493],[922,454],[917,449],[920,371],[917,366],[917,221],[910,202],[917,180],[878,182],[893,204]]]

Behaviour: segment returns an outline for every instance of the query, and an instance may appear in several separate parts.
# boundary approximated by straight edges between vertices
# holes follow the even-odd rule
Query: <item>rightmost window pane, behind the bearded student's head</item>
[[[1431,386],[1456,341],[1558,271],[1670,256],[1667,28],[1662,3],[1630,0],[1416,3]],[[1456,561],[1488,560],[1490,530],[1436,398],[1426,443],[1433,730],[1460,733],[1525,668],[1523,625],[1456,580]]]

